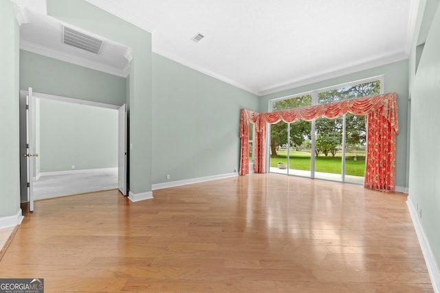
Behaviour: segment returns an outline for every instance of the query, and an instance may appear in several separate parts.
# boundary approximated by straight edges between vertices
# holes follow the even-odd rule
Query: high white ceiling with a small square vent
[[[419,0],[86,1],[151,32],[155,53],[257,95],[408,58],[419,7]],[[205,36],[199,43],[191,40],[197,33]],[[31,35],[22,33],[23,41],[38,42]]]

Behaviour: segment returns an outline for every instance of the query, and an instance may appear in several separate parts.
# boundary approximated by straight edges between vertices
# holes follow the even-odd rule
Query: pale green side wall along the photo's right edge
[[[440,261],[439,52],[440,9],[437,8],[412,84],[409,176],[410,202],[421,211],[420,222],[437,264]]]

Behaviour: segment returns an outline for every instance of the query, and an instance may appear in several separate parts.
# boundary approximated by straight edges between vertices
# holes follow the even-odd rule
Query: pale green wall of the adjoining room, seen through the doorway
[[[41,172],[118,167],[118,110],[39,100]]]

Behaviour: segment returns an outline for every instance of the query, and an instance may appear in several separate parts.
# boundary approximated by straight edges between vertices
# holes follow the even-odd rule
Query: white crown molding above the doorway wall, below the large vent
[[[127,77],[127,74],[124,72],[124,69],[117,69],[115,67],[102,65],[102,63],[99,62],[86,60],[71,54],[65,54],[61,51],[49,49],[47,47],[43,47],[41,45],[37,45],[35,43],[29,42],[28,40],[23,40],[23,39],[20,40],[20,49],[23,49],[25,51],[30,51],[35,54],[40,54],[49,58],[54,58],[61,61],[69,62],[74,65],[79,65],[82,67],[87,67],[89,69],[102,71],[104,73],[109,73],[111,75],[117,75],[120,76],[121,78]]]

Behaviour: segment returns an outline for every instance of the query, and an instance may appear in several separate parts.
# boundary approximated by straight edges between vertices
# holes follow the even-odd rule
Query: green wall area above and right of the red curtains
[[[260,101],[260,111],[267,112],[269,109],[269,100],[277,97],[286,97],[316,89],[322,89],[327,86],[335,86],[364,78],[371,78],[377,75],[385,75],[384,93],[397,93],[397,115],[399,119],[399,134],[396,139],[396,180],[397,187],[408,187],[406,180],[407,168],[407,117],[408,117],[408,60],[393,62],[388,65],[375,67],[348,75],[342,75],[338,78],[331,78],[322,82],[307,84],[295,89],[281,91],[270,95],[264,95]]]

